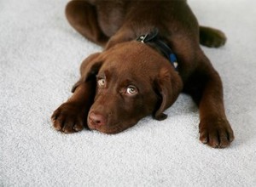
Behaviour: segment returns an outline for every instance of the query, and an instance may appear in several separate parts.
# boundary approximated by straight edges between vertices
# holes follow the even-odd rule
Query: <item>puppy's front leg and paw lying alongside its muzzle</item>
[[[95,96],[95,80],[78,82],[73,96],[63,103],[51,116],[56,130],[63,133],[75,133],[86,126],[90,106]]]

